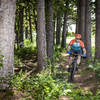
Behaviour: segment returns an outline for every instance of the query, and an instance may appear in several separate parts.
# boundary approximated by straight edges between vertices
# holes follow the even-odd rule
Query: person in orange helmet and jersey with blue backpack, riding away
[[[70,50],[70,51],[68,51]],[[69,66],[72,64],[74,54],[78,55],[77,64],[80,64],[81,55],[86,56],[86,49],[83,41],[81,40],[81,34],[75,34],[75,39],[72,39],[67,47],[67,52],[70,52],[69,56]]]

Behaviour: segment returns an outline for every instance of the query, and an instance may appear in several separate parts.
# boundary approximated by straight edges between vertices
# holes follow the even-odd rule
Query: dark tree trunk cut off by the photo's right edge
[[[95,59],[100,59],[100,0],[96,0]]]

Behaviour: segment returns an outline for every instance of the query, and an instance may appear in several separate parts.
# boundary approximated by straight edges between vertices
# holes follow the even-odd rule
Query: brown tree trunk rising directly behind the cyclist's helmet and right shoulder
[[[79,33],[82,35],[82,40],[85,42],[85,0],[80,0],[80,21],[79,21]]]

